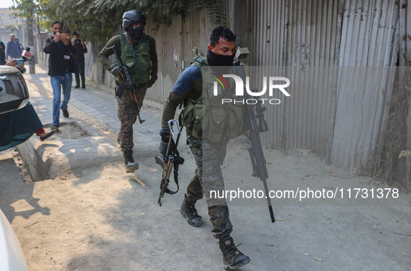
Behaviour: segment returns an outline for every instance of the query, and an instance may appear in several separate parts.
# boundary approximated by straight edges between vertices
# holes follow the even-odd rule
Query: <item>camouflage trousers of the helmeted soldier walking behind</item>
[[[136,88],[136,86],[134,86]],[[137,100],[140,107],[143,106],[143,100],[147,92],[147,85],[136,88]],[[121,97],[117,98],[118,119],[120,120],[120,133],[118,133],[117,142],[120,144],[121,151],[133,149],[133,124],[137,120],[136,105],[131,99],[131,91],[124,90]]]

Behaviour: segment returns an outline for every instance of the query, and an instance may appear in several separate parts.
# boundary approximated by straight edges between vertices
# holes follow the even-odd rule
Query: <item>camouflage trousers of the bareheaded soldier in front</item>
[[[210,221],[213,224],[213,236],[218,239],[227,238],[232,232],[227,202],[225,199],[210,197],[211,190],[224,190],[221,165],[225,158],[227,142],[210,143],[193,136],[187,136],[187,142],[197,165],[195,175],[187,186],[187,198],[197,201],[205,195]]]

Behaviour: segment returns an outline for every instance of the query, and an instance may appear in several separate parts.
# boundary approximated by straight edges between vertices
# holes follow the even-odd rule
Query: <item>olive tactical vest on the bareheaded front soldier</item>
[[[223,142],[243,133],[243,104],[223,104],[222,99],[235,99],[235,86],[223,88],[218,83],[218,95],[213,95],[216,76],[208,67],[206,58],[195,56],[191,65],[201,70],[202,95],[198,99],[188,97],[184,110],[179,115],[180,125],[189,135],[209,142]],[[233,69],[234,70],[234,69]]]

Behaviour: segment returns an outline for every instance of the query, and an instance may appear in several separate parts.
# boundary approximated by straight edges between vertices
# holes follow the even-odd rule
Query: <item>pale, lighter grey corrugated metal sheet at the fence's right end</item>
[[[372,167],[382,144],[398,58],[394,1],[346,1],[339,54],[340,80],[331,163]],[[386,67],[386,68],[376,68]]]

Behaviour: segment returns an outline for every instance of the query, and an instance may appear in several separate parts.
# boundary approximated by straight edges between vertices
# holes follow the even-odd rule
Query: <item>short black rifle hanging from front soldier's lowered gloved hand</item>
[[[175,123],[177,126],[178,135],[177,135],[177,140],[175,140],[174,147],[171,148],[171,143],[172,143],[172,136],[174,136],[174,132],[172,131],[172,124]],[[167,145],[167,151],[166,151],[166,157],[163,158],[163,156],[156,154],[154,155],[154,159],[156,160],[156,163],[161,166],[163,169],[163,175],[161,175],[161,183],[160,183],[160,195],[159,195],[159,200],[157,201],[159,205],[161,206],[161,199],[164,197],[165,193],[168,193],[170,195],[173,195],[178,192],[179,190],[179,182],[178,182],[178,171],[179,171],[179,165],[182,165],[184,163],[184,158],[179,156],[179,152],[177,151],[177,145],[179,144],[179,139],[180,135],[182,134],[181,129],[179,129],[179,126],[175,120],[169,120],[168,121],[168,128],[170,128],[170,140],[168,140],[168,145]],[[174,181],[177,184],[177,190],[172,191],[168,189],[168,183],[170,183],[170,175],[171,175],[171,170],[172,167],[174,167]]]

